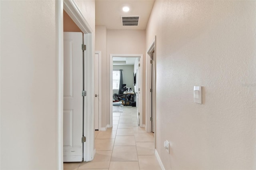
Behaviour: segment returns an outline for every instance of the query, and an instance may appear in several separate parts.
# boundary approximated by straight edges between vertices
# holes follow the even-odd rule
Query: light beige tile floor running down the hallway
[[[137,108],[113,113],[113,127],[95,131],[96,154],[90,162],[64,163],[64,170],[161,170],[154,154],[154,135],[138,126]]]

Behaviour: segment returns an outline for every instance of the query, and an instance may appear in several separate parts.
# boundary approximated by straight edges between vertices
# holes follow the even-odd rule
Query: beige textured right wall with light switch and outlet
[[[166,170],[256,168],[255,8],[155,2],[146,47],[156,35],[156,149]],[[195,85],[202,105],[193,102]]]

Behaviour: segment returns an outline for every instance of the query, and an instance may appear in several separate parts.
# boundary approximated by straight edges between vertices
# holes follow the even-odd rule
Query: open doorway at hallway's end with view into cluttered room
[[[113,120],[113,105],[114,109],[117,106],[130,107],[133,111],[136,109],[138,126],[143,127],[142,63],[142,54],[110,54],[110,127],[116,124]]]

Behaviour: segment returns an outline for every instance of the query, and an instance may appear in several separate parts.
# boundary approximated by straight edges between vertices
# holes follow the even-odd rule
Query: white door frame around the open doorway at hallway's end
[[[113,57],[140,57],[140,127],[143,127],[142,125],[142,98],[143,98],[143,54],[110,54],[110,125],[109,127],[113,127],[113,108],[112,108],[112,99],[113,99],[113,81],[111,81],[113,79]]]

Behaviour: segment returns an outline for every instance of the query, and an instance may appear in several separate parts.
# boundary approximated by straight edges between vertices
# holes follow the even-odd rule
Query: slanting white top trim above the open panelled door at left
[[[84,33],[84,34],[90,34],[92,33],[92,28],[84,18],[82,12],[78,8],[76,2],[74,0],[64,0],[64,10],[70,16],[70,18],[76,23],[78,28]]]

